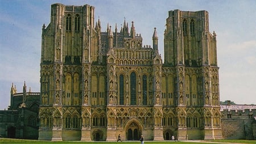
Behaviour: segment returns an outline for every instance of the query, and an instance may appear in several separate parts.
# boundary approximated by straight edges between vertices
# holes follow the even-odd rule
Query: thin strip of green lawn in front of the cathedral
[[[144,144],[179,144],[179,143],[256,143],[256,140],[241,140],[241,139],[217,139],[217,140],[209,140],[209,141],[204,141],[204,140],[200,140],[200,141],[179,141],[179,142],[175,142],[175,141],[146,141],[144,142]],[[38,141],[38,140],[28,140],[28,139],[10,139],[10,138],[0,138],[0,143],[30,143],[30,144],[39,144],[39,143],[43,143],[43,144],[52,144],[52,143],[57,143],[57,144],[61,144],[61,143],[86,143],[86,144],[103,144],[104,142],[84,142],[84,141],[61,141],[61,142],[52,142],[52,141]],[[120,143],[120,142],[119,142]],[[121,143],[125,143],[125,144],[140,144],[139,141],[125,141],[125,142],[121,142]],[[108,144],[117,144],[117,142],[108,142]]]

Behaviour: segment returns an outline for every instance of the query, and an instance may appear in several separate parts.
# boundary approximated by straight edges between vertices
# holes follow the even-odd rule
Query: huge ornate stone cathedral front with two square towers
[[[93,6],[53,4],[42,28],[38,139],[222,138],[208,12],[168,12],[164,63],[151,30],[152,46],[143,45],[134,22],[102,32]]]

